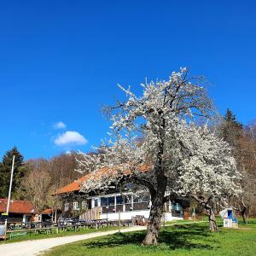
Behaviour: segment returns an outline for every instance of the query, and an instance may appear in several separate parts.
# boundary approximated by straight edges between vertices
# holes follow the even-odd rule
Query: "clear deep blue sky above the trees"
[[[219,112],[247,124],[255,45],[253,1],[2,1],[0,156],[88,151],[107,137],[100,109],[123,97],[116,84],[137,90],[179,67],[205,75]]]

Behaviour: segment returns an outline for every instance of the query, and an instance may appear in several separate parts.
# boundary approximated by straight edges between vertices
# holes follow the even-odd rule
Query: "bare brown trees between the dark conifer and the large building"
[[[53,194],[79,177],[79,173],[73,172],[75,166],[74,153],[60,154],[49,160],[27,160],[28,172],[20,180],[15,198],[31,201],[38,210],[60,207],[60,202]]]

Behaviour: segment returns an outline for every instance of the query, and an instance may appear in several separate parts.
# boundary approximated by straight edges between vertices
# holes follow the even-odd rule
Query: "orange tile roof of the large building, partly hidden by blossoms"
[[[140,171],[141,172],[148,172],[149,166],[141,166]],[[61,189],[58,189],[55,192],[55,195],[59,194],[65,194],[68,192],[75,192],[79,191],[81,189],[81,184],[84,183],[86,180],[90,179],[90,177],[93,176],[93,178],[101,177],[102,175],[108,175],[108,176],[113,176],[115,175],[117,170],[115,169],[110,169],[110,168],[102,168],[98,172],[90,172],[89,174],[85,175],[84,177],[80,177],[78,180],[75,180],[73,183],[67,184],[67,186],[62,187]],[[124,172],[126,175],[130,174],[130,171]]]

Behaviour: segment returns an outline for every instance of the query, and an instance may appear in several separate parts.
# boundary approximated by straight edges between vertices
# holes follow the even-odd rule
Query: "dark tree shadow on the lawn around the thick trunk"
[[[96,241],[90,241],[83,244],[87,248],[109,248],[121,247],[125,245],[139,246],[145,237],[146,232],[132,233],[116,233]],[[211,236],[206,226],[201,225],[179,225],[174,227],[166,227],[160,232],[160,250],[176,250],[176,249],[212,249],[213,247],[203,243],[195,243],[192,240],[204,240],[207,236]],[[156,247],[145,247],[156,248]]]

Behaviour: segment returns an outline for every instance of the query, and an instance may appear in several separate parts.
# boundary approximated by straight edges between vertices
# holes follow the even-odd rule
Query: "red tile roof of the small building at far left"
[[[7,199],[0,199],[0,212],[6,212]],[[38,214],[38,209],[29,201],[13,201],[9,203],[9,213]]]

